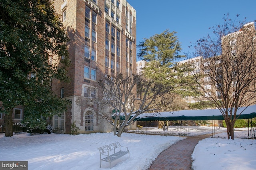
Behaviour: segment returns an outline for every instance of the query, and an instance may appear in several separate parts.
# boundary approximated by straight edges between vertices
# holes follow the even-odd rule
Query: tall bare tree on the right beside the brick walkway
[[[226,18],[213,27],[214,35],[197,41],[196,55],[202,57],[201,74],[194,74],[202,96],[222,113],[228,139],[234,139],[234,123],[242,106],[256,100],[256,31],[254,23],[244,25]],[[246,107],[245,107],[246,108]]]

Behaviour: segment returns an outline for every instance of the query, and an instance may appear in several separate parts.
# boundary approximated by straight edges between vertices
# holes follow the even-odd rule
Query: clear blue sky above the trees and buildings
[[[222,24],[224,14],[239,20],[256,20],[256,0],[127,0],[136,10],[136,43],[169,29],[176,31],[182,53],[193,52],[190,42],[211,33],[209,27]],[[138,49],[137,49],[138,53]]]

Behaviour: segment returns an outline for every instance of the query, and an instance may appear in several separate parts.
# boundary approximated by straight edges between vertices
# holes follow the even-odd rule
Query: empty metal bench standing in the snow
[[[125,154],[129,154],[130,158],[130,152],[128,150],[128,147],[122,147],[126,148],[124,151],[121,150],[121,145],[119,142],[112,143],[110,145],[106,145],[103,147],[98,148],[100,150],[100,168],[101,168],[101,161],[109,162],[109,168],[111,168],[111,162],[124,156]]]

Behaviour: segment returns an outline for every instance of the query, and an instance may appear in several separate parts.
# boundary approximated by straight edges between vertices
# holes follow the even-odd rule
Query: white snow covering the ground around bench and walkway
[[[138,130],[139,131],[139,130]],[[128,155],[112,162],[112,170],[146,170],[163,150],[186,137],[170,136],[186,133],[188,136],[212,133],[212,127],[172,126],[168,131],[158,128],[144,128],[144,135],[123,133],[93,133],[80,135],[21,133],[13,137],[0,134],[0,160],[26,160],[29,170],[104,170],[108,162],[102,162],[98,147],[119,142],[130,150]],[[216,138],[199,141],[192,154],[194,170],[255,170],[256,140],[248,138],[246,128],[236,129],[235,140],[226,139],[225,128],[215,129]],[[145,132],[144,132],[145,133]]]

